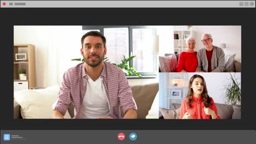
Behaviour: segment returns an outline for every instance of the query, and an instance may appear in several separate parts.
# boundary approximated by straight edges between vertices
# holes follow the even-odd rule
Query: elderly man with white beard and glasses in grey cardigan
[[[223,72],[225,67],[224,51],[217,46],[212,45],[212,35],[202,34],[202,49],[197,52],[196,72]]]

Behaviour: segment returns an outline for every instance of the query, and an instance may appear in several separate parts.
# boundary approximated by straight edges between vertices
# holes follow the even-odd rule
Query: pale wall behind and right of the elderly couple
[[[174,26],[174,30],[187,29],[186,26]],[[225,53],[236,53],[235,59],[241,62],[241,26],[193,26],[193,37],[196,39],[196,51],[203,47],[201,36],[210,33],[213,37],[213,45],[226,44]],[[244,47],[245,48],[245,47]]]

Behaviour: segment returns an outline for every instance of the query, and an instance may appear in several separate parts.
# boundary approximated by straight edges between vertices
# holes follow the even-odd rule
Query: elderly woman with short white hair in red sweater
[[[188,50],[179,54],[179,61],[177,65],[178,72],[195,72],[197,67],[197,52],[195,49],[195,39],[188,37],[186,39]]]

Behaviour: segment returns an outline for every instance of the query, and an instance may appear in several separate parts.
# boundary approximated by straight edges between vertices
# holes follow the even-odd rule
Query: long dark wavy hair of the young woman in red
[[[197,77],[201,78],[202,81],[203,81],[203,92],[202,92],[201,97],[202,97],[203,104],[205,104],[205,107],[208,107],[208,106],[212,105],[211,98],[207,93],[205,79],[203,79],[203,77],[201,75],[193,75],[189,80],[189,91],[188,91],[188,95],[187,95],[187,98],[188,98],[189,101],[188,101],[187,105],[189,107],[191,107],[191,102],[192,102],[192,97],[191,96],[193,95],[193,89],[190,88],[190,86],[192,85],[192,82],[194,81],[194,79],[197,78]]]

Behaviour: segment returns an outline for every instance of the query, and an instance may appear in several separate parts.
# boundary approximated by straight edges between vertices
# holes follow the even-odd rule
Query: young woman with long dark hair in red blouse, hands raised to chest
[[[189,80],[187,98],[182,101],[180,119],[220,119],[217,107],[206,89],[205,79],[194,75]]]

